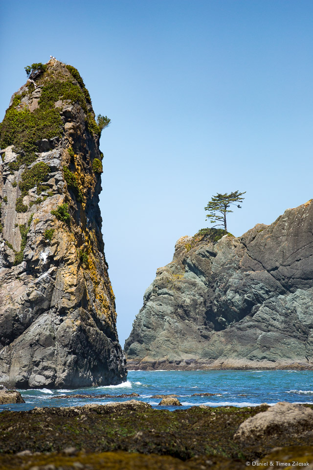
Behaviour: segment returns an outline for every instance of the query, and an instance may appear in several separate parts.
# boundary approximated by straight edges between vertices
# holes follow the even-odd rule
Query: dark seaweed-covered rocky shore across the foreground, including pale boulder
[[[313,405],[169,411],[130,400],[0,416],[3,470],[244,469],[247,461],[267,468],[269,458],[313,464]]]

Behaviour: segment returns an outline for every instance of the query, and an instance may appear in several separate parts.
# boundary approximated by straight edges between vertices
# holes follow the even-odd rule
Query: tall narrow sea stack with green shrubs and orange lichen
[[[0,383],[116,384],[126,369],[98,206],[101,128],[78,71],[43,69],[0,125]]]

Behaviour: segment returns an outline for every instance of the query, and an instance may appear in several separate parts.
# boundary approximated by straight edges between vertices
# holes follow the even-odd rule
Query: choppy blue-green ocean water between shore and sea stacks
[[[117,395],[138,393],[136,400],[158,407],[156,394],[176,394],[183,408],[205,404],[209,406],[273,405],[278,401],[313,404],[313,371],[130,371],[120,385],[90,387],[75,390],[20,390],[25,403],[0,405],[3,410],[30,410],[35,406],[79,406],[88,403],[106,404],[132,400]],[[205,397],[198,393],[214,393]],[[94,398],[67,398],[72,394],[91,394]],[[114,398],[97,398],[102,394]],[[62,398],[56,398],[63,396]],[[162,407],[163,408],[163,407]],[[175,407],[167,407],[175,409]]]

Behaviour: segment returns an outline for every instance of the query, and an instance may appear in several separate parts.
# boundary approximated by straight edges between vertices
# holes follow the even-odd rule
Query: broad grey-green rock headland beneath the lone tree
[[[313,200],[238,238],[180,238],[125,352],[129,369],[312,369]]]

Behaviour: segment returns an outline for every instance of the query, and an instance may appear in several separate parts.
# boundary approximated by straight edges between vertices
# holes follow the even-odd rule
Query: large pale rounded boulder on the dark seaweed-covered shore
[[[313,410],[295,403],[277,403],[242,423],[234,439],[245,446],[268,440],[280,445],[286,435],[300,442],[302,439],[313,442]]]

